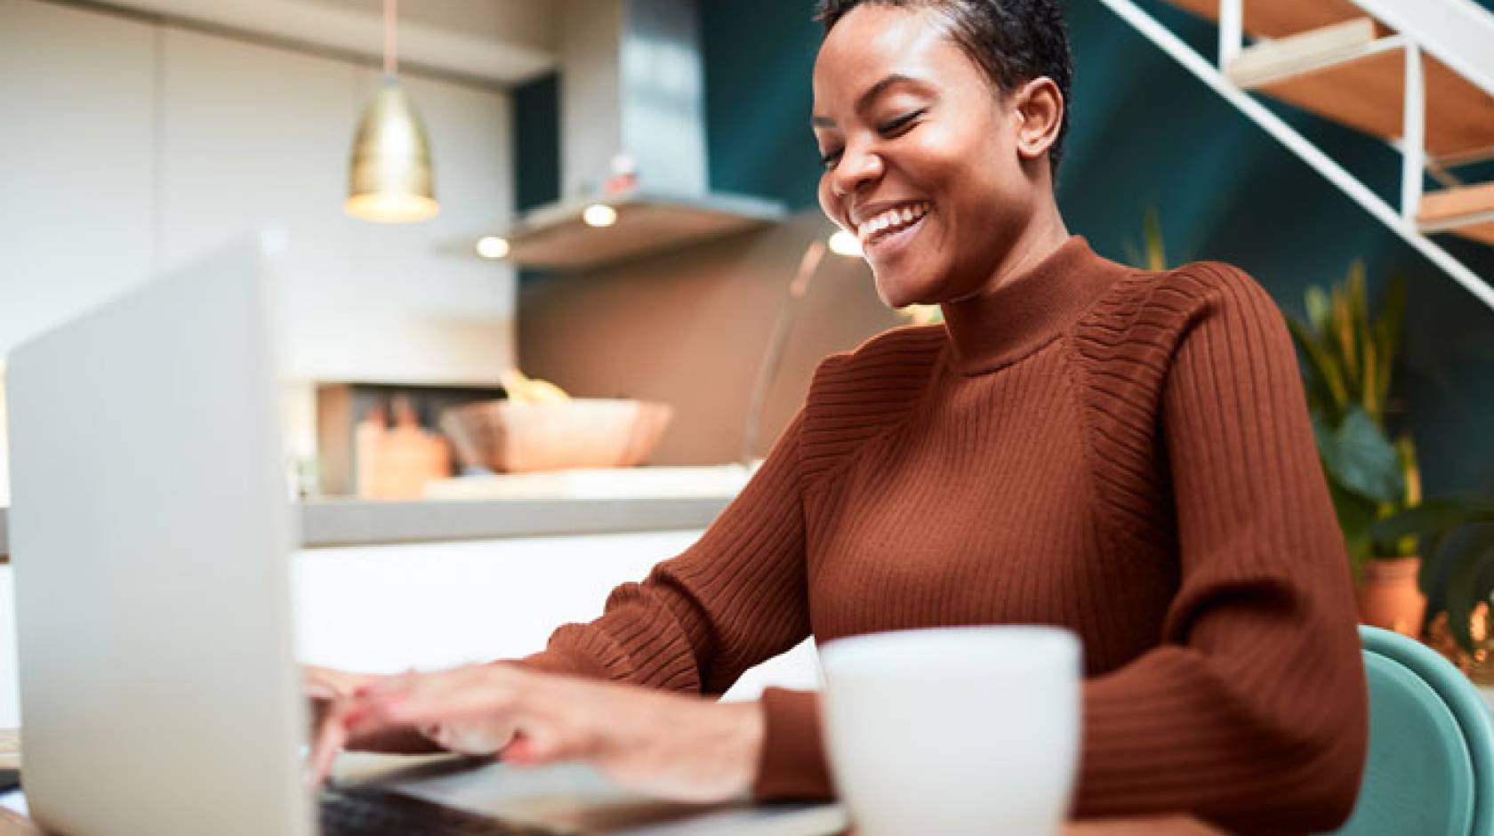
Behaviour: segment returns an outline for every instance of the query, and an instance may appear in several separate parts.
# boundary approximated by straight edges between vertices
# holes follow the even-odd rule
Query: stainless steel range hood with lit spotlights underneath
[[[584,270],[784,216],[781,203],[710,191],[696,0],[565,0],[557,13],[568,197],[498,230],[509,261]],[[598,203],[613,224],[586,221]]]

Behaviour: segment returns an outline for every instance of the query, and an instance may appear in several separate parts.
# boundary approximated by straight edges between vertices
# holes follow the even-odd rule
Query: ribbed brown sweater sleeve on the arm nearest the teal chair
[[[1143,316],[1176,331],[1159,409],[1180,587],[1161,645],[1086,682],[1077,812],[1191,811],[1243,833],[1336,827],[1366,755],[1364,670],[1282,316],[1218,263],[1171,275]],[[1109,372],[1129,364],[1146,379],[1155,343],[1112,360]],[[1143,409],[1107,414],[1113,439],[1152,430],[1125,425]],[[1106,503],[1125,533],[1140,515],[1123,508],[1143,499]]]

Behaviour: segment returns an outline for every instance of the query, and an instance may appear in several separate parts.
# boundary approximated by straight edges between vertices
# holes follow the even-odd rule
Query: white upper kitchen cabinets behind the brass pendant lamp
[[[405,75],[441,215],[344,215],[378,73],[133,19],[0,0],[0,355],[263,227],[288,233],[285,373],[492,384],[514,364],[512,267],[472,252],[512,205],[502,90]]]

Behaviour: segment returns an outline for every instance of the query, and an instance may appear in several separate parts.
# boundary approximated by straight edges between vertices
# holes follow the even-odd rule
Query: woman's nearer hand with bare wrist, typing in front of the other
[[[312,751],[314,778],[350,736],[397,727],[526,766],[587,761],[620,785],[680,802],[746,794],[763,737],[757,703],[480,664],[390,678],[339,700]]]

